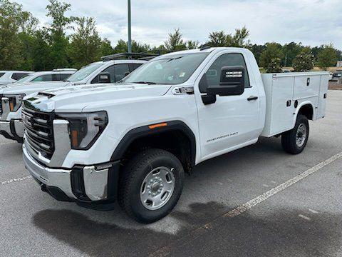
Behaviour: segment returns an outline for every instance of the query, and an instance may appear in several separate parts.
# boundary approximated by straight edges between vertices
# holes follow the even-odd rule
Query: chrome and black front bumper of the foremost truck
[[[100,205],[116,200],[118,162],[72,169],[48,168],[31,156],[25,143],[23,157],[26,169],[42,190],[59,201],[76,201],[86,206],[86,203]]]

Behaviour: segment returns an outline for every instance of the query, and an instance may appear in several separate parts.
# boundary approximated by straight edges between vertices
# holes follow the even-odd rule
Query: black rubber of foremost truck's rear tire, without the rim
[[[306,138],[304,140],[304,143],[299,146],[296,143],[296,136],[297,136],[297,131],[299,126],[303,124],[306,128]],[[299,114],[297,116],[296,124],[294,126],[294,129],[291,129],[290,131],[286,131],[281,135],[281,146],[283,146],[284,151],[287,153],[291,154],[298,154],[301,153],[305,146],[306,143],[308,142],[309,139],[309,121],[306,118],[306,116]]]

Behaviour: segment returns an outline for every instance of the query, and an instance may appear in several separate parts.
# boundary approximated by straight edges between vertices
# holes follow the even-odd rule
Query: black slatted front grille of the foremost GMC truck
[[[22,110],[26,140],[33,150],[51,158],[55,151],[53,139],[53,113],[33,111],[26,107]]]

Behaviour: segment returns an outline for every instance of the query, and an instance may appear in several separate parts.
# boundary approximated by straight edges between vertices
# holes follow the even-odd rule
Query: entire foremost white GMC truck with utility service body
[[[301,153],[323,118],[328,73],[263,74],[251,51],[204,48],[159,56],[115,86],[26,96],[24,162],[43,191],[90,208],[120,206],[142,223],[170,213],[185,172],[281,136]]]

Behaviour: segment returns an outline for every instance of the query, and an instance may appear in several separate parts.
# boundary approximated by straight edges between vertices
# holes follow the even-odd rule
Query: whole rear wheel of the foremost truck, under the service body
[[[309,121],[306,116],[297,116],[294,129],[281,135],[281,145],[287,153],[301,153],[309,139]]]

